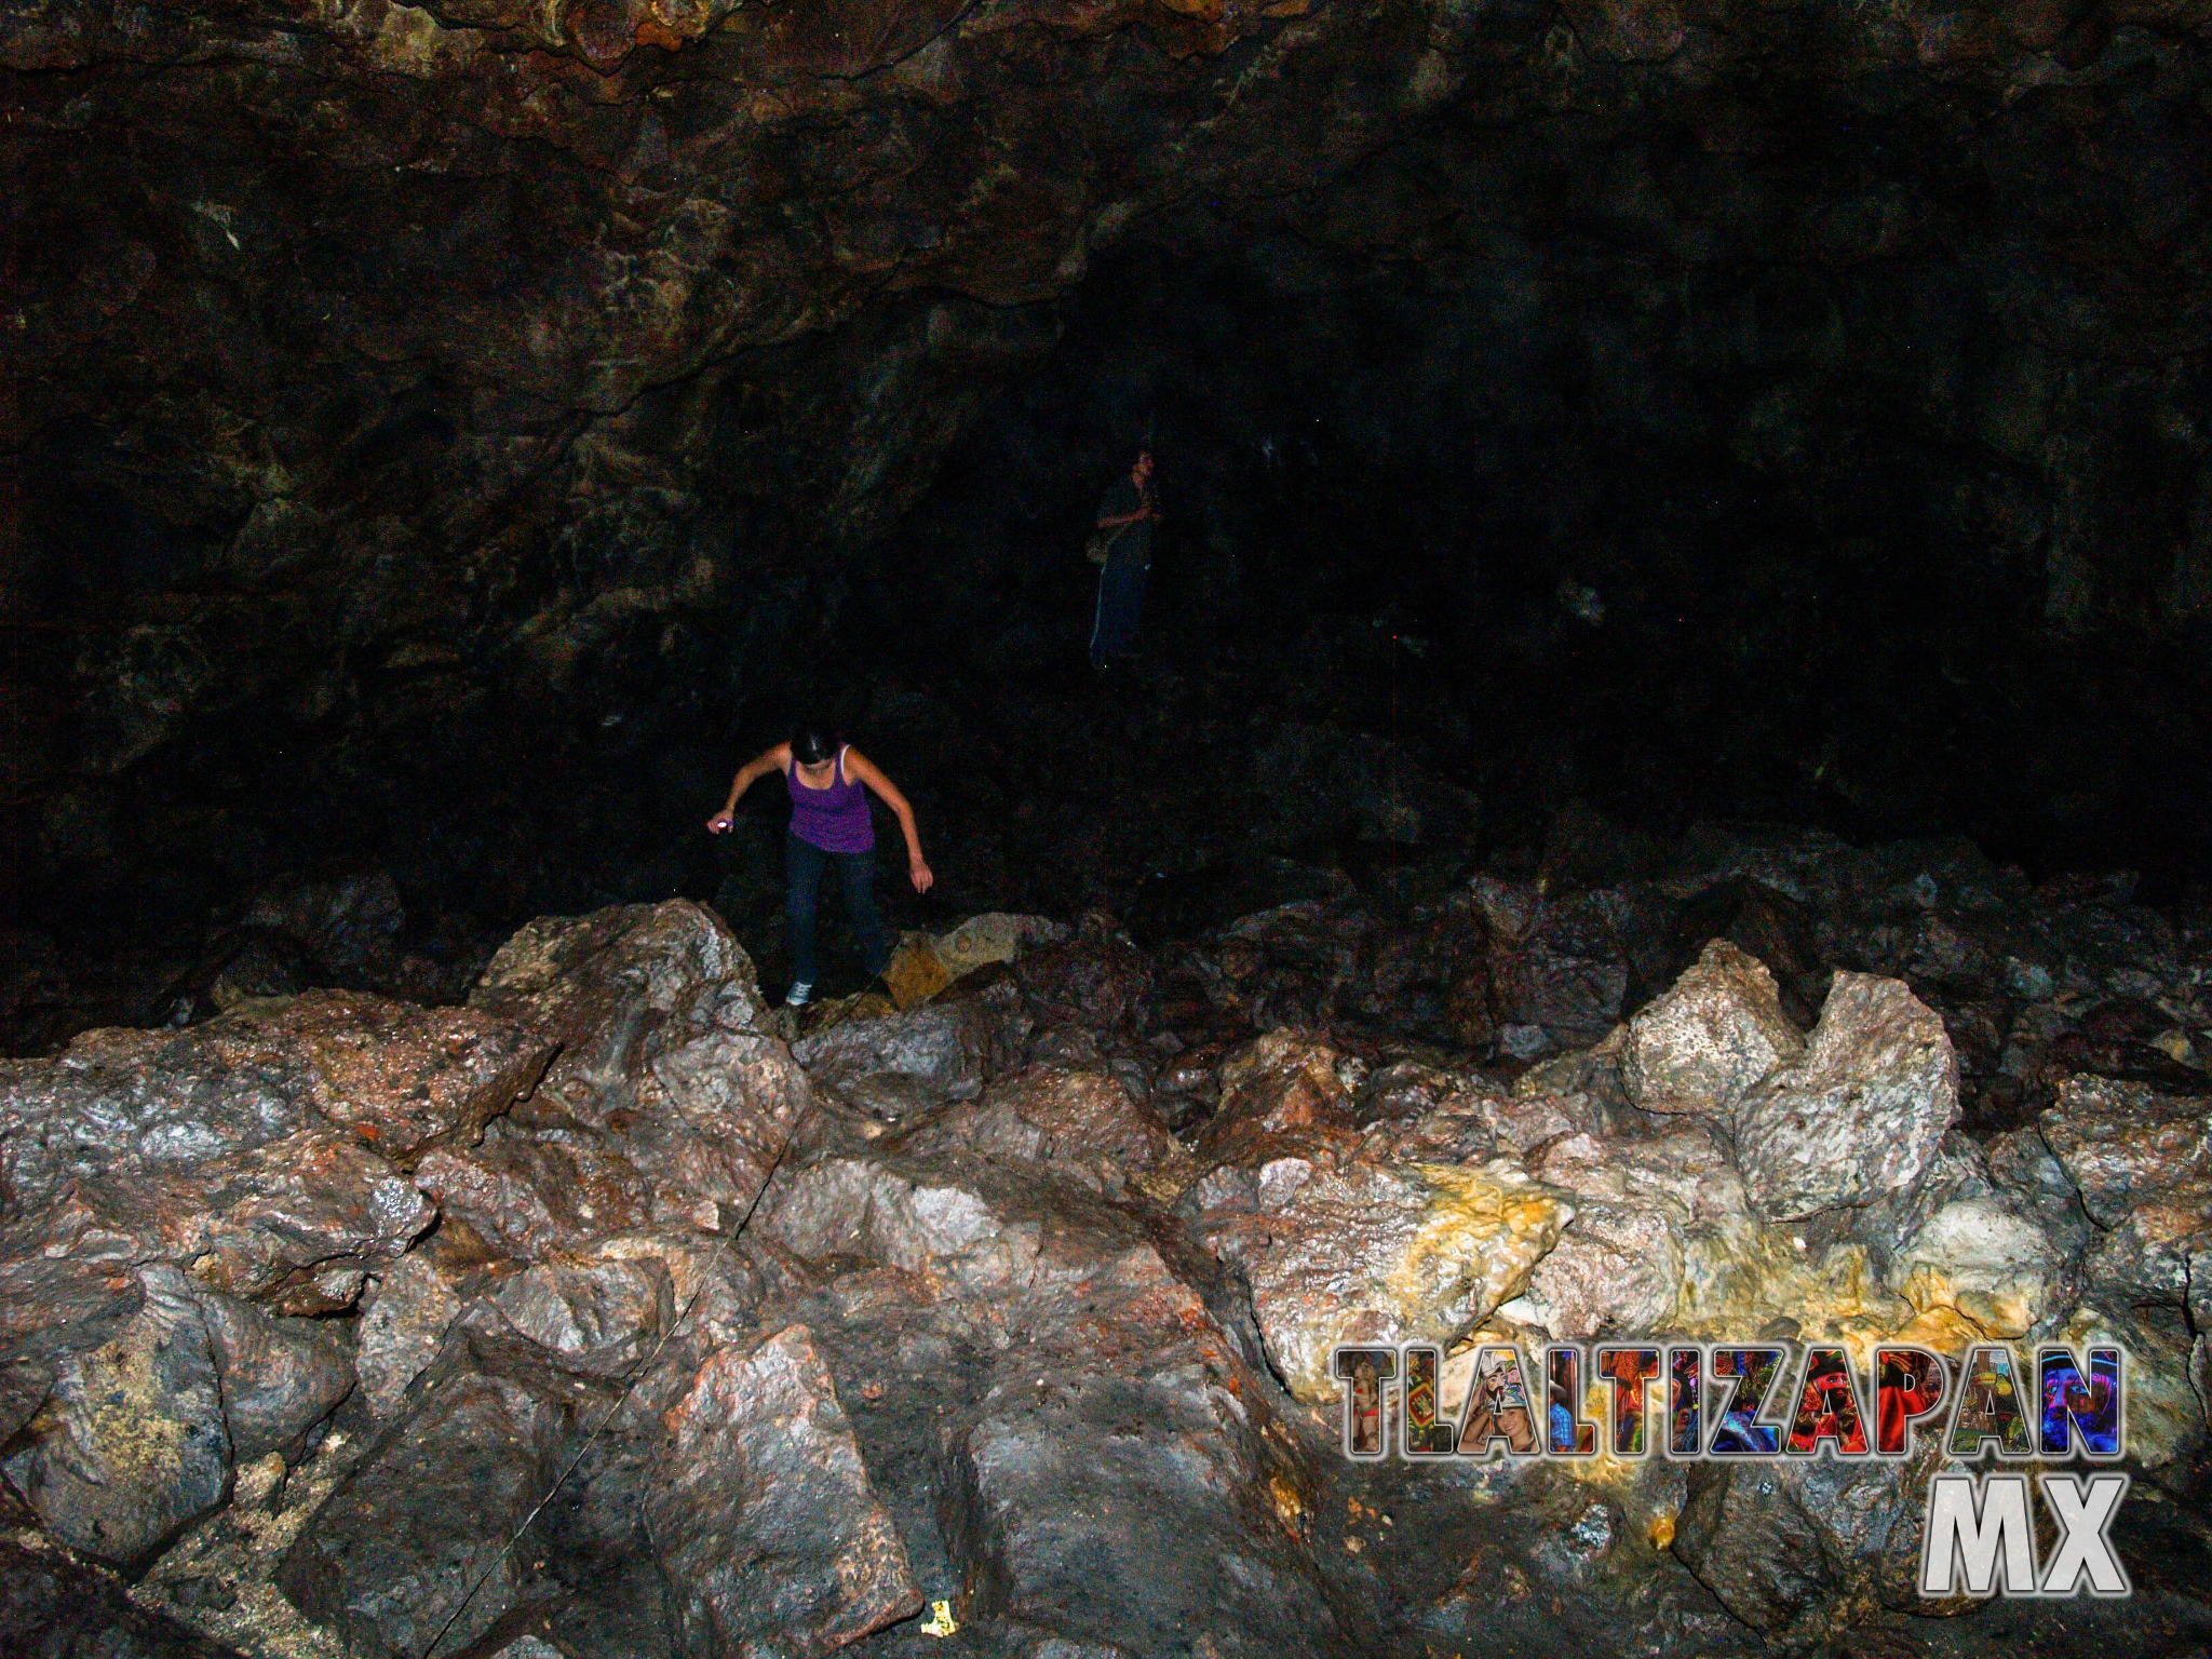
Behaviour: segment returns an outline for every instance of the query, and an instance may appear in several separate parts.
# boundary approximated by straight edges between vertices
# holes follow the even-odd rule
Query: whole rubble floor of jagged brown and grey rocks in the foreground
[[[1568,863],[975,918],[805,1022],[630,905],[0,1062],[0,1646],[2212,1641],[2208,942],[1951,843]],[[1922,1606],[1929,1458],[1340,1455],[1332,1343],[1480,1332],[2119,1340],[2135,1597]]]

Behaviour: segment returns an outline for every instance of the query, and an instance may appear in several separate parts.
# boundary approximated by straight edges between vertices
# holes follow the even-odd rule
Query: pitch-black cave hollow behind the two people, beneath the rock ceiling
[[[942,887],[880,883],[909,927],[1104,907],[1157,940],[1343,878],[1400,905],[1480,865],[1582,860],[1566,874],[1601,883],[1708,818],[1964,834],[2037,880],[2124,865],[2148,900],[2197,905],[2203,624],[2179,566],[2141,573],[2190,546],[2194,449],[2157,436],[2177,394],[2112,392],[2132,425],[2097,489],[2128,533],[2099,553],[2097,626],[2055,626],[2046,478],[1991,440],[2037,418],[2006,396],[2048,394],[1986,361],[1986,307],[1927,261],[1655,274],[1139,243],[993,323],[1029,341],[1020,369],[843,560],[779,568],[787,526],[706,493],[677,526],[622,509],[518,571],[465,571],[493,615],[546,584],[613,599],[555,703],[502,684],[515,646],[482,635],[345,679],[246,675],[115,781],[49,801],[53,883],[20,889],[20,918],[175,975],[285,872],[389,869],[425,989],[524,914],[670,891],[714,900],[774,973],[781,807],[754,799],[732,845],[697,821],[805,717],[920,807]],[[1927,407],[1947,356],[1938,383],[1980,387],[1951,387],[1980,398],[1964,418]],[[708,429],[741,431],[757,394],[714,398]],[[1079,549],[1146,438],[1168,520],[1141,644],[1095,672]],[[84,431],[44,445],[97,476]],[[422,392],[343,467],[405,500],[451,453]],[[91,484],[38,522],[51,615],[142,591],[190,611],[93,644],[124,686],[265,648],[217,597],[250,531],[226,553]],[[387,542],[369,557],[403,597],[363,626],[407,633],[409,606],[436,626],[451,575]],[[675,615],[624,611],[701,560],[752,566]],[[312,657],[316,624],[290,626]],[[71,644],[18,628],[18,675],[84,677]],[[100,714],[95,690],[93,745]]]

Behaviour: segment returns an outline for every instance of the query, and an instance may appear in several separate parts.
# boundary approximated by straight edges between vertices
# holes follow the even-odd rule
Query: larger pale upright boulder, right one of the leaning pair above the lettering
[[[1942,1020],[1900,980],[1838,973],[1803,1060],[1736,1108],[1752,1203],[1798,1221],[1916,1186],[1958,1119],[1958,1057]]]

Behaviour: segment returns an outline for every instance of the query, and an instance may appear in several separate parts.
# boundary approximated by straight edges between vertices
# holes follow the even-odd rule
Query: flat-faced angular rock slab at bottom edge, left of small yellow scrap
[[[823,1655],[920,1610],[803,1325],[710,1358],[668,1431],[646,1524],[686,1652]]]

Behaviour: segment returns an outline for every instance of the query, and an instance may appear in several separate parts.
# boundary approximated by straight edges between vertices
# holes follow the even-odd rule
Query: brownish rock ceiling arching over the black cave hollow
[[[1869,445],[1940,456],[1916,489],[1951,529],[1913,557],[2004,639],[2194,666],[2208,29],[2203,0],[4,0],[15,878],[133,818],[188,843],[146,807],[179,768],[726,717],[993,398],[1071,327],[1110,356],[1117,285],[1159,270],[1387,294],[1405,407],[1495,380],[1531,456],[1595,427],[1829,502]],[[1491,356],[1425,358],[1431,312]],[[1491,374],[1533,336],[1548,367]]]

